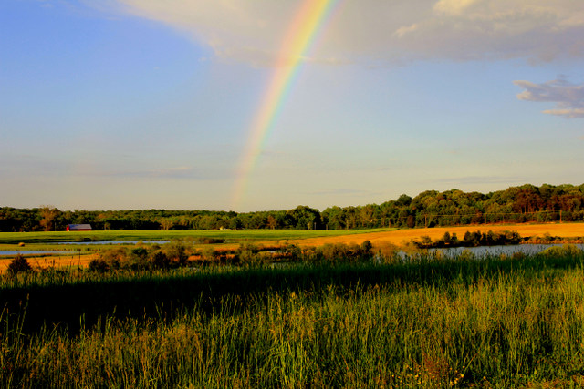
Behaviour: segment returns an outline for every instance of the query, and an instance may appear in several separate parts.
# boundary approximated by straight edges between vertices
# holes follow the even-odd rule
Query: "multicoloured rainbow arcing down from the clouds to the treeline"
[[[328,16],[332,14],[339,2],[340,0],[304,0],[289,26],[282,41],[281,54],[278,57],[276,69],[255,113],[245,152],[238,165],[232,209],[236,210],[244,197],[247,182],[264,149],[270,129],[274,127],[278,113],[294,84],[293,81],[300,69],[302,58],[312,46],[318,32],[326,25]]]

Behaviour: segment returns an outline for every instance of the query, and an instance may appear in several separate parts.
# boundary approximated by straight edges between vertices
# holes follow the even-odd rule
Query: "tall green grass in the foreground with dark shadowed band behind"
[[[4,387],[578,387],[584,255],[5,275]],[[42,322],[45,322],[42,325]]]

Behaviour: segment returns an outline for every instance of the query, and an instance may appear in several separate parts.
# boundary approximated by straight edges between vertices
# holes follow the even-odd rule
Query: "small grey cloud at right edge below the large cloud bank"
[[[514,84],[525,89],[517,94],[520,100],[556,103],[555,108],[542,111],[545,114],[564,118],[584,118],[584,84],[575,85],[564,79],[555,79],[543,84],[514,81]]]

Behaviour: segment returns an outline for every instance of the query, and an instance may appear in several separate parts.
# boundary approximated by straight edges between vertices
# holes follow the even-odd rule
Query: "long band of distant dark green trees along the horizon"
[[[308,206],[237,213],[214,210],[57,210],[0,208],[0,231],[65,230],[90,223],[93,230],[297,229],[355,230],[487,223],[584,220],[584,184],[523,185],[487,194],[427,190],[413,199],[357,207]]]

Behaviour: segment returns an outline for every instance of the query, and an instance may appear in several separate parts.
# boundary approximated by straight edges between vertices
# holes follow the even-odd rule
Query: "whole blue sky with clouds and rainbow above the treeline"
[[[0,207],[580,185],[583,69],[574,0],[3,0]]]

